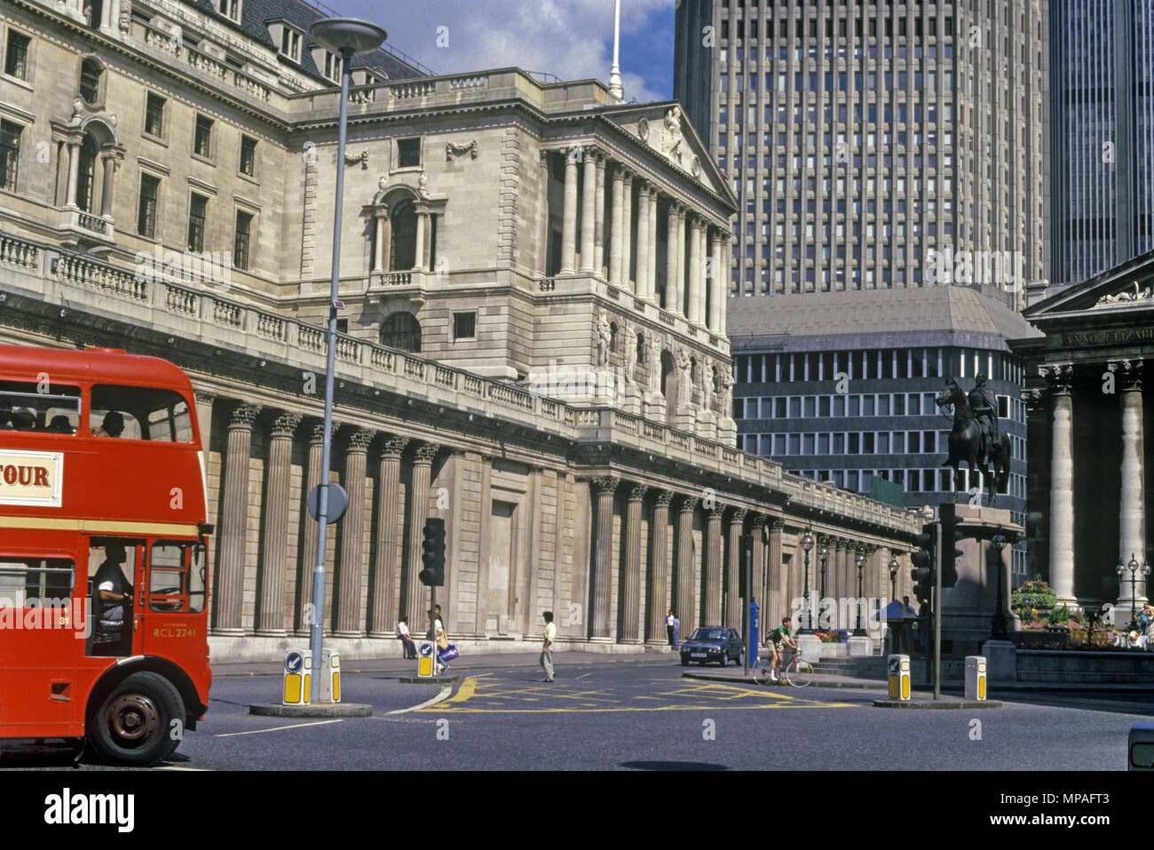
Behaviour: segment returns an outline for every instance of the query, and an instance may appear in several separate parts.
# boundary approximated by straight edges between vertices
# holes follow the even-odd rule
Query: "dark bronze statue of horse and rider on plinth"
[[[982,480],[989,489],[989,505],[992,507],[997,501],[997,491],[1010,479],[1010,438],[998,427],[997,410],[982,392],[984,383],[984,376],[977,375],[974,389],[967,394],[951,378],[946,381],[945,390],[934,401],[939,408],[953,405],[950,456],[942,465],[953,469],[954,489],[961,479],[959,467],[965,462],[971,474],[982,474]]]

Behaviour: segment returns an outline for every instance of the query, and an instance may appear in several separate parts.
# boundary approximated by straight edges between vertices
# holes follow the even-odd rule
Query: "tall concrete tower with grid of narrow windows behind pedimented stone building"
[[[949,247],[1020,308],[1048,277],[1048,6],[683,0],[674,97],[739,197],[730,293],[939,283]]]

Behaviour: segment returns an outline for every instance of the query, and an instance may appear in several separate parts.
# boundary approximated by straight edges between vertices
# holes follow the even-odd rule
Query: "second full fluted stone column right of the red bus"
[[[278,413],[269,424],[269,483],[264,501],[264,559],[261,564],[261,609],[256,633],[285,634],[285,565],[288,562],[288,485],[292,476],[292,435],[297,413]]]

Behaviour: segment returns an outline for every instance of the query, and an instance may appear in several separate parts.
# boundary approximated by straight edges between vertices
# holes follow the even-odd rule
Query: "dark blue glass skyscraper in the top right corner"
[[[1154,6],[1050,3],[1051,283],[1154,248]]]

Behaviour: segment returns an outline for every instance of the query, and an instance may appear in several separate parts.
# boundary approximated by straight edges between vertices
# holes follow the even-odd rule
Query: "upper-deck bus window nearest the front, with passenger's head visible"
[[[171,389],[95,386],[89,427],[93,437],[159,442],[193,441],[188,402]]]

